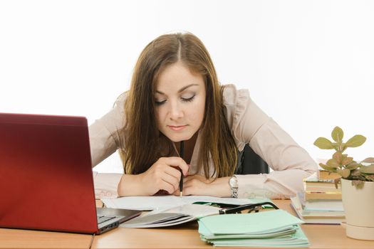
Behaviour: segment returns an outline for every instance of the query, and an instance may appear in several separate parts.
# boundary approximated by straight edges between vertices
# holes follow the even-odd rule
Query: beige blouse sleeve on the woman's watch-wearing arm
[[[239,150],[249,143],[273,169],[269,174],[236,175],[239,198],[289,198],[303,191],[303,179],[318,169],[308,152],[251,100],[248,90],[229,85],[224,104]]]

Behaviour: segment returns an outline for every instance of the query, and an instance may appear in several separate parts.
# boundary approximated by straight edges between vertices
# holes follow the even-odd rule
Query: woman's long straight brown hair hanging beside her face
[[[207,49],[192,33],[160,36],[140,53],[125,102],[126,125],[121,131],[125,139],[125,148],[120,149],[125,174],[145,172],[160,157],[172,155],[172,141],[156,126],[154,92],[158,75],[178,61],[203,76],[207,92],[198,165],[204,168],[207,178],[213,174],[232,176],[237,166],[237,146],[227,124],[223,88]],[[209,172],[209,154],[214,172]]]

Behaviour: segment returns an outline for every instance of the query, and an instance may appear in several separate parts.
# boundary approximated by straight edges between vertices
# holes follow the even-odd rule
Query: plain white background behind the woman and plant
[[[222,83],[252,99],[313,158],[336,125],[374,156],[374,1],[0,1],[0,112],[83,115],[128,90],[164,33],[207,46]],[[1,139],[1,138],[0,138]],[[117,154],[96,168],[119,172]]]

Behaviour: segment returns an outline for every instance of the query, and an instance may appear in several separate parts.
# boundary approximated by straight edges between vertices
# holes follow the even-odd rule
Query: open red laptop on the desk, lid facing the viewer
[[[99,234],[140,213],[97,214],[85,117],[0,113],[0,189],[2,228]]]

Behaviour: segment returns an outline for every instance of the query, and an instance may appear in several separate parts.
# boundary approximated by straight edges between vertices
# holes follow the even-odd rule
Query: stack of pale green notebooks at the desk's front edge
[[[202,240],[214,246],[306,248],[300,219],[283,210],[224,214],[199,220]]]

